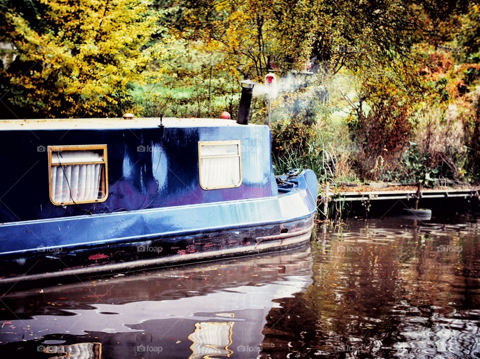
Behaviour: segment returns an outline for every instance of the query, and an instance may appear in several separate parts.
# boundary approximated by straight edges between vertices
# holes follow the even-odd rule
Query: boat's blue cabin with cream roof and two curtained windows
[[[278,193],[268,127],[227,119],[2,120],[0,151],[0,223]]]

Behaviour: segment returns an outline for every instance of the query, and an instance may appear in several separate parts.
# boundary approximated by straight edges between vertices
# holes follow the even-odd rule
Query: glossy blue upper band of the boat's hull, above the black
[[[117,244],[310,217],[316,209],[315,174],[304,171],[296,181],[298,186],[282,196],[3,224],[1,252]]]

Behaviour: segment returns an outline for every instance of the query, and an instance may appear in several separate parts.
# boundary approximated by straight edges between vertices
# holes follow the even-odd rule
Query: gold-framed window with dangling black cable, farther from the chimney
[[[50,201],[103,202],[108,196],[106,145],[48,146]]]

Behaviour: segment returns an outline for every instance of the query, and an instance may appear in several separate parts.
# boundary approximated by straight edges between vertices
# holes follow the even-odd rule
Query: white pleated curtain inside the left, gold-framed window
[[[94,154],[94,156],[88,158],[87,154],[83,153],[82,156],[84,158],[78,162],[97,161],[97,154],[93,152],[92,154]],[[74,165],[61,164],[62,162],[71,162],[71,160],[71,156],[64,156],[64,154],[62,154],[62,157],[58,158],[56,153],[53,153],[52,163],[58,163],[57,166],[51,166],[53,201],[62,203],[93,201],[98,199],[100,175],[102,166],[104,165],[101,163]]]

